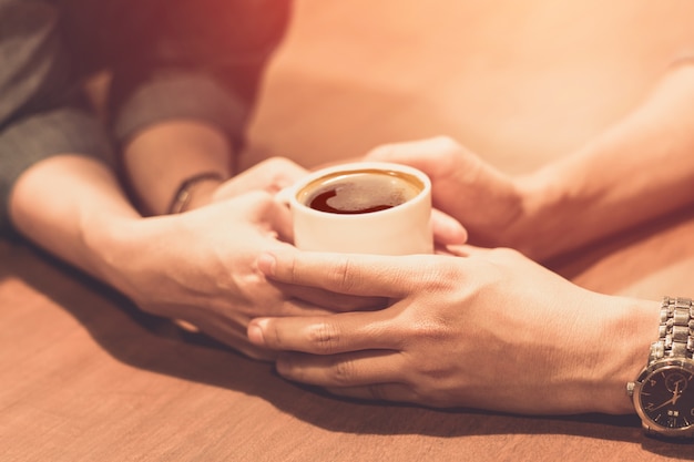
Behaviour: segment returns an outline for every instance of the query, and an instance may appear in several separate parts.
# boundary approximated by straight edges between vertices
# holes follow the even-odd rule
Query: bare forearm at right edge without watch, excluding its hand
[[[694,201],[694,65],[573,155],[521,178],[519,248],[547,258]]]

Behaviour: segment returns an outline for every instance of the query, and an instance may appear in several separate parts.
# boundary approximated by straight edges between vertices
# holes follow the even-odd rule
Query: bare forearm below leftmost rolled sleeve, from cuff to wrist
[[[10,196],[14,228],[49,253],[119,289],[119,242],[134,243],[140,218],[112,171],[93,158],[57,155],[27,170]],[[121,261],[120,264],[122,264]]]

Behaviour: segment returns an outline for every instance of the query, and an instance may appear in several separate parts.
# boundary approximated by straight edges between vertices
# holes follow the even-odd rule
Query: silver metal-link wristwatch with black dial
[[[645,433],[694,438],[694,304],[663,298],[659,339],[636,380],[626,384]]]

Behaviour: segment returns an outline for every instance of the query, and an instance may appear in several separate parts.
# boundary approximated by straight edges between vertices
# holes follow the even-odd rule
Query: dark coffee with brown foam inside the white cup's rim
[[[331,214],[368,214],[404,204],[422,189],[421,181],[406,173],[359,170],[312,182],[299,192],[299,201]]]

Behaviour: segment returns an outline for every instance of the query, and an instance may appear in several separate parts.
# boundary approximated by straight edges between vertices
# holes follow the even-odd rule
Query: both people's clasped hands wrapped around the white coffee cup
[[[131,290],[133,298],[337,394],[520,413],[633,410],[624,383],[643,363],[657,312],[651,301],[582,289],[506,248],[538,259],[581,244],[580,229],[562,228],[562,219],[538,225],[549,206],[537,176],[503,175],[446,137],[382,146],[367,158],[431,177],[442,212],[435,236],[447,251],[297,250],[289,213],[273,195],[306,172],[273,160],[221,185],[212,204],[156,218],[178,229],[150,237],[161,243],[154,250],[186,249],[161,281],[137,281],[147,291]],[[569,238],[534,237],[555,232]]]

